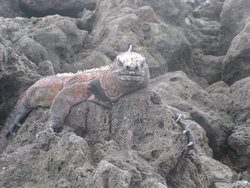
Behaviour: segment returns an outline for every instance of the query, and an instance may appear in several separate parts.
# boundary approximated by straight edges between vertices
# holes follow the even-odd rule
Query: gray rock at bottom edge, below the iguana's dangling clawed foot
[[[172,187],[178,188],[213,186],[225,188],[232,186],[232,183],[237,180],[237,175],[229,167],[211,157],[191,154],[189,158],[183,156],[167,179]]]

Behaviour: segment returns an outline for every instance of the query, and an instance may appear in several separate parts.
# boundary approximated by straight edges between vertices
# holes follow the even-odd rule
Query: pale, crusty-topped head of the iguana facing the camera
[[[138,86],[148,84],[149,68],[145,57],[141,54],[123,52],[117,55],[111,67],[113,75],[122,85]]]

